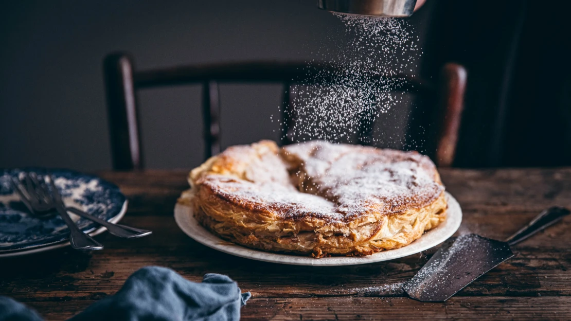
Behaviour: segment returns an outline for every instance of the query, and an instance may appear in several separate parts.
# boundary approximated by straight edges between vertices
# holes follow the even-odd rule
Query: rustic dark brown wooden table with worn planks
[[[571,217],[515,247],[502,263],[445,303],[420,303],[395,284],[411,278],[430,255],[347,267],[301,267],[257,262],[211,250],[176,226],[172,210],[187,188],[187,171],[100,172],[129,199],[123,222],[154,234],[125,240],[96,236],[103,251],[69,248],[0,260],[0,295],[62,320],[114,294],[147,265],[199,281],[207,272],[230,275],[252,299],[244,320],[571,319]],[[546,207],[571,207],[571,168],[441,170],[459,200],[459,232],[503,239]]]

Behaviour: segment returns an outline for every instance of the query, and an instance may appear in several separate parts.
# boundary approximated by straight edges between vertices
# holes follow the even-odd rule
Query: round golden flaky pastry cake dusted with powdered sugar
[[[220,238],[316,258],[406,246],[447,210],[428,157],[324,141],[233,146],[188,180],[179,203]]]

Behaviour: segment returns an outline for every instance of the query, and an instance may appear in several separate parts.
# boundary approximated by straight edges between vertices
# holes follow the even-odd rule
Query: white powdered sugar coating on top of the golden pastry
[[[418,153],[313,141],[284,147],[267,166],[249,167],[250,182],[227,175],[208,175],[201,184],[234,203],[253,210],[272,210],[286,217],[317,216],[349,220],[355,216],[392,213],[424,206],[444,187],[435,181],[436,169]],[[292,183],[282,177],[287,162]],[[280,166],[278,166],[280,164]],[[260,171],[263,175],[256,174]]]

